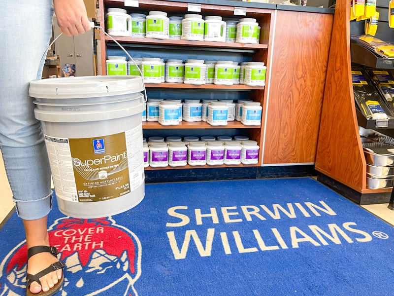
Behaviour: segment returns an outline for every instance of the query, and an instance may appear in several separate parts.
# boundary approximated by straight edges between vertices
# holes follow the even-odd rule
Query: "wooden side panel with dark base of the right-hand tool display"
[[[351,74],[349,6],[348,0],[336,2],[315,169],[319,181],[359,204],[388,202],[392,188],[366,187]]]

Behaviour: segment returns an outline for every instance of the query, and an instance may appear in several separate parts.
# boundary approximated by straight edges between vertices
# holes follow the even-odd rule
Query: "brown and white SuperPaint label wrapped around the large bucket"
[[[67,139],[45,135],[57,197],[96,202],[144,182],[142,127],[114,135]]]

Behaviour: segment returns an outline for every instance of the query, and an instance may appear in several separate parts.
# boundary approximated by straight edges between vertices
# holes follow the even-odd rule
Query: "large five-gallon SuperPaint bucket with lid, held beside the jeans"
[[[75,218],[115,215],[145,195],[140,76],[35,80],[59,210]]]

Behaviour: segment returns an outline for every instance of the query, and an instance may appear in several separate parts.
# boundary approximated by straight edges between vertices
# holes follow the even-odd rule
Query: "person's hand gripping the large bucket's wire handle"
[[[63,34],[71,36],[90,31],[91,26],[83,0],[54,0],[53,5]]]

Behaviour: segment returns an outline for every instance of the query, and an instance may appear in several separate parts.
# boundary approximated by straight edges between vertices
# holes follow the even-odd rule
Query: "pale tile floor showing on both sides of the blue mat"
[[[11,211],[14,211],[11,196],[11,188],[5,175],[3,160],[0,157],[0,224]],[[394,211],[387,206],[388,204],[374,204],[362,206],[362,208],[394,226]]]

